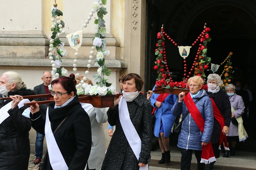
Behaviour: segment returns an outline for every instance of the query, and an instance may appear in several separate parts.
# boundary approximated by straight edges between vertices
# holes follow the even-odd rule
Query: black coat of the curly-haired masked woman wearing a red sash
[[[225,126],[229,127],[230,121],[231,121],[231,105],[230,101],[228,99],[228,95],[226,91],[219,90],[217,93],[211,93],[207,91],[207,94],[210,98],[213,98],[214,103],[219,109],[219,112],[221,112],[222,116],[224,117]],[[217,121],[217,119],[214,118],[213,123],[213,131],[212,131],[212,137],[211,142],[212,144],[219,143],[219,137],[221,133],[221,125]]]

